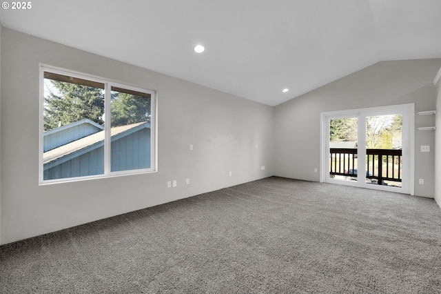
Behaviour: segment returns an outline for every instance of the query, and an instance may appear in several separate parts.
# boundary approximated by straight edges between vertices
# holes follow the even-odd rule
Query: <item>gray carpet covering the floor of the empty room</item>
[[[0,246],[0,293],[441,293],[441,209],[269,177]]]

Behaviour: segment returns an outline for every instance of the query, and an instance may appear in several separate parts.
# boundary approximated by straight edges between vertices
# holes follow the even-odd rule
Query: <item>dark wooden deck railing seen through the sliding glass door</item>
[[[330,175],[357,177],[357,149],[330,148]],[[366,178],[382,185],[384,181],[401,182],[402,150],[366,149]]]

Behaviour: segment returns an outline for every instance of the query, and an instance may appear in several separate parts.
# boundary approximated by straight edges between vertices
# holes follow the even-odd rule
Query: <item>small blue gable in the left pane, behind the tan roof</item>
[[[44,133],[44,151],[52,150],[59,146],[69,144],[88,135],[98,133],[104,127],[96,124],[90,119],[83,119],[72,124],[54,128]]]

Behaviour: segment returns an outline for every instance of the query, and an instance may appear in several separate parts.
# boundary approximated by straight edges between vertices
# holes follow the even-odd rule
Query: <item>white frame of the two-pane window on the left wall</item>
[[[105,102],[104,102],[104,112],[106,119],[104,121],[104,173],[101,175],[87,175],[83,177],[66,177],[63,179],[43,179],[43,150],[44,150],[44,139],[43,139],[43,126],[44,126],[44,72],[52,72],[54,74],[66,75],[69,77],[75,77],[78,79],[85,79],[89,81],[95,81],[101,84],[104,84],[104,92],[105,92]],[[74,72],[70,70],[64,70],[61,68],[55,68],[52,66],[40,65],[40,112],[39,112],[39,184],[56,184],[56,183],[65,183],[65,182],[76,182],[83,181],[88,179],[101,179],[105,177],[117,177],[122,175],[138,175],[141,173],[156,173],[158,169],[157,165],[157,135],[156,135],[156,117],[157,117],[157,109],[156,109],[156,91],[147,90],[145,88],[139,88],[136,86],[130,86],[127,84],[122,84],[116,81],[112,81],[110,79],[104,79],[101,77],[94,77],[92,75],[86,75],[80,72]],[[136,92],[144,92],[150,94],[150,168],[140,168],[136,170],[119,170],[119,171],[111,171],[110,161],[111,161],[111,145],[112,140],[110,136],[111,131],[111,121],[112,114],[110,109],[110,92],[112,87],[124,88],[126,90],[133,90]]]

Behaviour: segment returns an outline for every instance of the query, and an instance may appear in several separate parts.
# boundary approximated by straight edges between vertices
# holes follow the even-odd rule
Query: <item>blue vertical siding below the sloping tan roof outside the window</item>
[[[144,124],[112,137],[111,169],[150,168],[150,124]],[[103,141],[48,162],[43,179],[65,179],[104,173]]]

